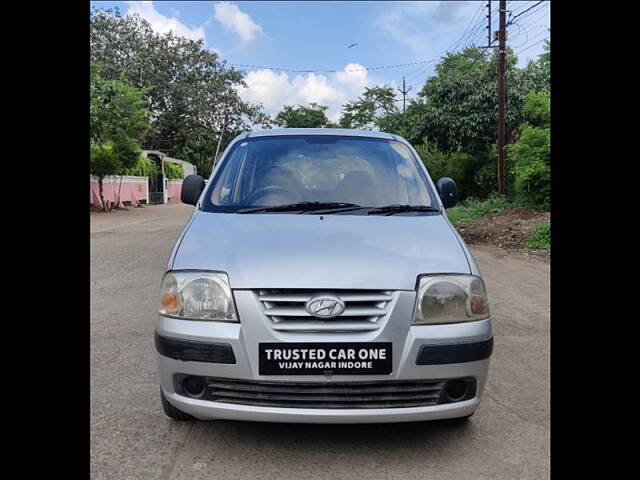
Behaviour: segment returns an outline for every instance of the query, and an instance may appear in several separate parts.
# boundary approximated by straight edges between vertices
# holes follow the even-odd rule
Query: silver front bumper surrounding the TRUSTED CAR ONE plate
[[[246,294],[246,298],[236,293],[241,323],[198,322],[159,315],[155,328],[159,338],[170,339],[170,344],[173,346],[176,342],[171,340],[178,340],[178,345],[181,344],[180,341],[183,345],[194,341],[218,344],[218,347],[229,345],[235,361],[230,363],[228,355],[220,356],[220,350],[212,354],[209,359],[191,351],[189,360],[185,361],[179,359],[180,355],[175,354],[173,350],[160,348],[159,350],[164,353],[164,355],[160,353],[157,355],[162,391],[175,407],[201,420],[385,423],[455,418],[473,413],[480,402],[489,368],[488,355],[491,351],[490,348],[487,350],[487,344],[492,338],[490,319],[449,325],[411,325],[410,320],[407,319],[410,319],[413,313],[415,294],[413,292],[397,293],[398,297],[389,318],[381,329],[373,332],[342,334],[277,332],[270,328],[269,320],[262,315],[257,302],[248,297],[249,293]],[[261,342],[392,342],[392,373],[389,375],[335,375],[331,378],[317,375],[260,375],[258,344]],[[477,354],[479,349],[484,349],[484,355]],[[425,354],[425,352],[432,354]],[[216,359],[223,359],[227,363],[202,361]],[[446,363],[449,361],[456,363]],[[425,362],[428,364],[419,364]],[[408,408],[285,408],[190,398],[176,392],[174,385],[176,374],[263,382],[310,382],[324,385],[331,385],[332,382],[389,382],[473,377],[476,379],[477,389],[475,396],[471,399],[441,405]]]

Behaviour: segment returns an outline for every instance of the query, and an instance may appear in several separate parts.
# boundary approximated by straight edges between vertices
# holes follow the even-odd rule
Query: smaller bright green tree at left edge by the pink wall
[[[122,80],[104,80],[101,67],[91,64],[90,171],[98,178],[103,208],[103,180],[107,175],[124,174],[140,158],[140,139],[147,130],[148,110],[143,92]]]

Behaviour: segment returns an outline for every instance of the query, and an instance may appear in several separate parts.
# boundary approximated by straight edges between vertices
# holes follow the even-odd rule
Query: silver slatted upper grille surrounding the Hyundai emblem
[[[386,290],[258,290],[258,300],[272,328],[290,332],[366,332],[379,328],[387,314],[392,292]],[[307,312],[305,304],[314,297],[333,295],[345,303],[338,317],[319,319]]]

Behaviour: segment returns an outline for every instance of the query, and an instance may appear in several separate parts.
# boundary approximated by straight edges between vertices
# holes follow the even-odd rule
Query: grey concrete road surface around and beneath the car
[[[191,213],[181,204],[91,218],[93,479],[549,477],[549,264],[472,248],[495,348],[467,424],[176,423],[162,413],[152,340],[160,278]]]

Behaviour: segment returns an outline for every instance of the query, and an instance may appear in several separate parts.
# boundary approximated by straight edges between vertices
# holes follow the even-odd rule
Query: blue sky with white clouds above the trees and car
[[[405,77],[415,98],[447,50],[487,44],[487,1],[92,1],[138,14],[160,33],[202,39],[246,73],[240,96],[276,114],[283,105],[327,105],[337,121],[341,106],[365,87]],[[491,2],[492,30],[498,1]],[[508,1],[508,45],[526,65],[550,36],[549,2]],[[352,44],[356,44],[351,46]],[[495,43],[494,43],[495,44]],[[350,47],[351,46],[351,47]],[[383,67],[383,68],[374,68]],[[295,72],[304,70],[305,72]],[[310,71],[310,72],[309,72]]]

